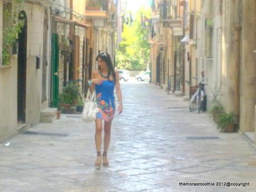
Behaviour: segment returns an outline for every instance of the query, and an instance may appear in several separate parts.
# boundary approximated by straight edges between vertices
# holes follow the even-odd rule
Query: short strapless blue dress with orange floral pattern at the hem
[[[97,119],[111,121],[114,118],[116,105],[114,97],[115,81],[104,80],[101,85],[95,86],[99,112]]]

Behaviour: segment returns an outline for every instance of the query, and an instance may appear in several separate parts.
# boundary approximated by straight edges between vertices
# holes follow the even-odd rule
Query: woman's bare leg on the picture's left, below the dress
[[[95,145],[97,150],[97,160],[95,162],[95,166],[101,165],[101,135],[102,135],[102,120],[95,120],[96,130],[95,130]]]

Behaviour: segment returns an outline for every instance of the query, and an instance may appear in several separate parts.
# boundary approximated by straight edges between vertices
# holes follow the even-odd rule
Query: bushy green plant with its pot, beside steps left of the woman
[[[60,107],[63,107],[63,114],[75,113],[79,96],[80,91],[77,83],[68,83],[66,87],[63,87],[60,94]]]

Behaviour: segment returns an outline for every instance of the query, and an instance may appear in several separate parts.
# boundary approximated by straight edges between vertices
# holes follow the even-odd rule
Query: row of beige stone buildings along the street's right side
[[[171,9],[170,14],[165,8]],[[170,59],[171,62],[167,62],[167,66],[173,80],[171,86],[176,95],[183,95],[184,99],[188,100],[191,96],[190,86],[205,81],[208,109],[213,105],[213,100],[218,99],[225,111],[234,112],[240,131],[246,132],[254,140],[255,9],[254,0],[153,1],[149,40],[153,83],[159,83],[163,87],[166,85],[165,73],[157,71],[156,61],[159,61],[159,66],[165,66],[166,60]],[[183,14],[179,15],[179,10],[184,10]],[[174,13],[176,17],[172,17]],[[167,18],[161,19],[166,14]],[[174,35],[174,25],[178,23],[179,18],[182,19],[183,28],[181,38]],[[171,28],[170,31],[163,29],[166,26]],[[168,40],[160,39],[166,36],[169,37]],[[183,51],[178,57],[181,58],[180,63],[175,64],[179,43]],[[165,55],[165,50],[172,51],[166,51]],[[164,60],[158,58],[159,53]],[[180,66],[183,75],[177,68]],[[202,71],[204,77],[201,75]],[[158,81],[157,72],[160,79]]]

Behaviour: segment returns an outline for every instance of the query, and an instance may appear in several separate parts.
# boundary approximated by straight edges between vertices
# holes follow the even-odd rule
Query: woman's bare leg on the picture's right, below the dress
[[[103,152],[103,165],[107,166],[109,165],[109,161],[107,160],[107,150],[109,149],[109,144],[110,144],[110,137],[111,137],[111,124],[112,120],[109,122],[105,121],[104,124],[104,152]]]

